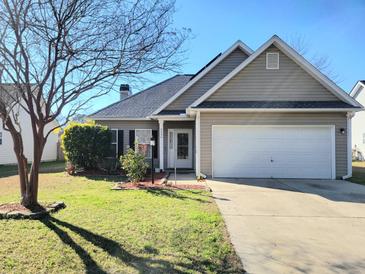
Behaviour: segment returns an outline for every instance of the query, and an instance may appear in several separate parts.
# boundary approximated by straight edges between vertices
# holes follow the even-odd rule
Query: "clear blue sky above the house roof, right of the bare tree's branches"
[[[177,0],[174,25],[192,31],[181,73],[197,72],[237,40],[256,50],[276,34],[304,39],[308,57],[326,56],[346,92],[365,80],[365,0]],[[149,75],[149,82],[132,86],[132,92],[172,75]],[[116,92],[99,98],[90,111],[118,98]]]

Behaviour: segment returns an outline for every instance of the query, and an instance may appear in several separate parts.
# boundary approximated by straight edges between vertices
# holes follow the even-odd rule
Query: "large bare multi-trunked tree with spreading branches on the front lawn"
[[[52,122],[62,116],[66,123],[120,77],[179,68],[189,30],[173,28],[173,13],[171,0],[0,3],[0,83],[7,84],[1,85],[0,118],[14,141],[22,205],[38,206],[39,167]],[[19,108],[33,132],[29,170]]]

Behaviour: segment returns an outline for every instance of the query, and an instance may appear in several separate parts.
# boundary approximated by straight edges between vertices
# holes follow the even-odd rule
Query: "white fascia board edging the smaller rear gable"
[[[170,105],[173,101],[175,101],[181,94],[183,94],[186,90],[192,87],[196,82],[198,82],[203,76],[205,76],[209,71],[211,71],[216,65],[218,65],[222,60],[224,60],[229,54],[231,54],[236,48],[240,48],[244,51],[248,56],[253,53],[253,50],[249,48],[245,43],[238,40],[234,43],[229,49],[227,49],[221,56],[219,56],[213,63],[211,63],[205,70],[203,70],[197,77],[188,82],[182,89],[180,89],[174,96],[172,96],[169,100],[163,103],[157,110],[155,110],[152,115],[157,115],[159,112],[164,110],[168,105]]]

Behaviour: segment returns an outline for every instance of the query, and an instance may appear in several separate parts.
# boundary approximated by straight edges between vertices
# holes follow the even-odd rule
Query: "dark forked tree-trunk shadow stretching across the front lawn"
[[[110,256],[117,258],[126,265],[134,268],[139,273],[185,273],[175,269],[174,265],[165,260],[156,260],[143,258],[131,254],[126,251],[118,242],[108,239],[106,237],[95,234],[84,228],[75,226],[73,224],[58,220],[54,217],[46,217],[41,222],[57,234],[60,240],[70,246],[75,253],[80,257],[85,265],[86,273],[108,273],[103,270],[97,262],[90,256],[90,254],[79,244],[77,244],[71,236],[61,227],[67,228],[78,234],[88,242],[101,248]]]

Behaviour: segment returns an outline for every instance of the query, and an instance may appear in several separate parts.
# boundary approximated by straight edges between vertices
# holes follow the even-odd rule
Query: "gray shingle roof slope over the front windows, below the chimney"
[[[192,75],[175,75],[90,115],[98,118],[145,118],[185,86]]]

